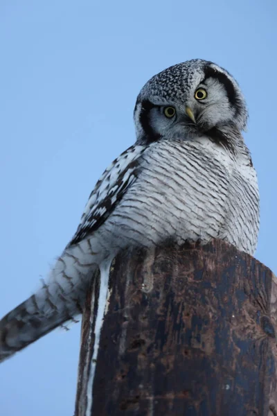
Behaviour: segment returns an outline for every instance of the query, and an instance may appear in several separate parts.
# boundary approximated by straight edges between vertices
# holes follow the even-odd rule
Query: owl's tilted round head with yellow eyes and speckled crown
[[[134,109],[138,143],[213,139],[247,125],[247,107],[235,79],[217,64],[189,60],[153,76]]]

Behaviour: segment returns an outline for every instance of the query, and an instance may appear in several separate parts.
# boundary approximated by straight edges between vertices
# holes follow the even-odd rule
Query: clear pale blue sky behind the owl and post
[[[240,83],[261,196],[256,257],[277,272],[276,0],[0,1],[0,315],[39,286],[106,166],[134,143],[155,73],[213,60]],[[0,415],[72,416],[80,324],[0,366]]]

